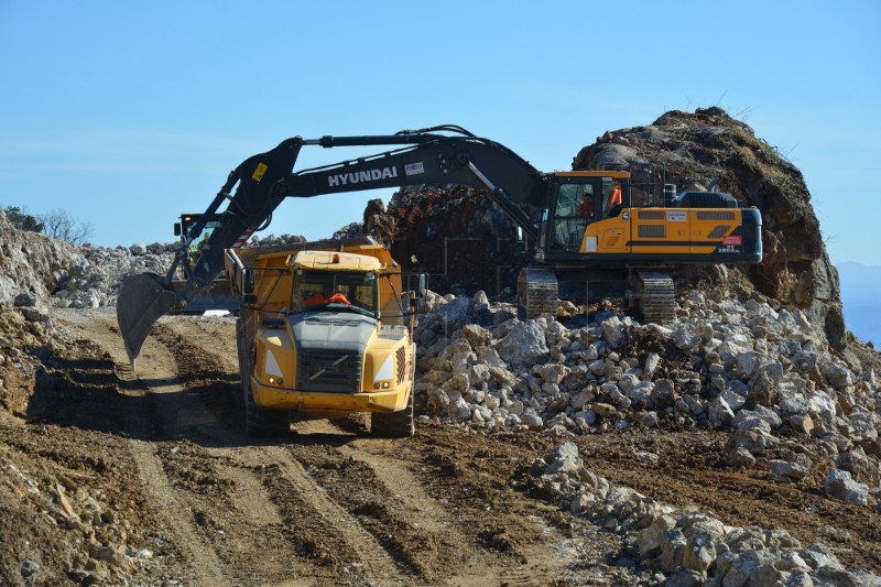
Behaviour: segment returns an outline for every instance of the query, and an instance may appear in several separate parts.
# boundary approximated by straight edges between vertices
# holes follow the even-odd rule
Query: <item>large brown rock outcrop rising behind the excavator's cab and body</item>
[[[651,163],[679,191],[711,182],[762,211],[764,259],[742,271],[769,297],[805,311],[842,350],[838,273],[829,261],[802,173],[747,124],[719,108],[671,111],[646,127],[609,131],[573,160],[575,170]]]

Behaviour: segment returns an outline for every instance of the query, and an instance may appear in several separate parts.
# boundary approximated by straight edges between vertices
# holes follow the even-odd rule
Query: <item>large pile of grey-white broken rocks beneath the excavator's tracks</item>
[[[443,422],[558,436],[612,428],[730,431],[724,460],[815,475],[881,508],[881,381],[829,352],[798,309],[693,290],[671,326],[614,312],[521,322],[512,306],[434,296],[417,328],[417,398]],[[803,450],[802,445],[809,445]]]

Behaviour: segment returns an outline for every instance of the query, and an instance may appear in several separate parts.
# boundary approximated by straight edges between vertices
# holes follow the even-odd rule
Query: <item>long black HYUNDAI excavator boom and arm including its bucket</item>
[[[439,134],[442,131],[453,135]],[[305,145],[406,146],[294,172],[296,159]],[[537,228],[527,210],[541,206],[545,182],[544,174],[513,151],[477,138],[460,127],[435,127],[389,135],[314,140],[295,137],[282,141],[271,151],[249,157],[229,174],[203,218],[215,214],[227,199],[229,205],[180,292],[171,287],[171,279],[183,259],[183,251],[202,232],[204,221],[193,226],[181,254],[164,276],[140,273],[122,283],[117,320],[132,369],[153,324],[172,308],[185,307],[207,287],[224,268],[224,250],[244,232],[269,224],[273,210],[285,198],[421,184],[472,185],[487,188],[490,198],[534,239]],[[237,184],[235,195],[230,195]]]

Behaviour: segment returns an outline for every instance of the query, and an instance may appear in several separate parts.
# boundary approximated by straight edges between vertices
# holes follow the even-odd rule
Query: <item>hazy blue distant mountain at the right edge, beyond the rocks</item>
[[[881,265],[848,261],[836,268],[847,328],[864,343],[881,347]]]

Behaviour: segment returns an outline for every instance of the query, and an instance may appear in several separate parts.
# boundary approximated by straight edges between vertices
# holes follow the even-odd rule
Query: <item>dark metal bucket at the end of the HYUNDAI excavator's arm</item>
[[[139,273],[122,282],[117,300],[117,323],[132,370],[153,324],[167,314],[176,301],[174,292],[166,289],[155,273]]]

